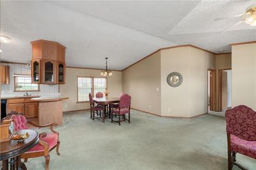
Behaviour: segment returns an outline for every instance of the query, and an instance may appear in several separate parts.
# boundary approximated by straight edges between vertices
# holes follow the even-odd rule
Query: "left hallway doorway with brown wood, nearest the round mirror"
[[[216,111],[216,70],[215,69],[208,69],[208,93],[207,93],[207,100],[208,100],[208,112],[209,111]]]

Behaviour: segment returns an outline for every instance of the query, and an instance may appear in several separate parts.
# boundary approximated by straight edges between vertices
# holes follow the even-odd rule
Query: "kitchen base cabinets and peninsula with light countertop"
[[[39,125],[49,123],[62,125],[62,100],[66,100],[68,97],[61,97],[61,95],[3,95],[1,99],[7,100],[7,112],[22,112],[28,120],[37,119]]]

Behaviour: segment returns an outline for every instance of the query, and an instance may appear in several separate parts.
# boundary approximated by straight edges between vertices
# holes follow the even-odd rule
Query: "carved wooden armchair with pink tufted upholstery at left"
[[[23,130],[28,129],[27,124],[33,125],[34,127],[49,127],[52,133],[41,133],[39,134],[39,141],[38,143],[31,148],[30,150],[26,151],[25,153],[21,154],[21,158],[24,158],[24,162],[28,161],[28,158],[35,158],[35,157],[44,157],[45,158],[45,169],[49,170],[49,162],[50,162],[50,151],[56,148],[57,154],[60,155],[59,147],[60,147],[60,140],[59,140],[59,133],[53,129],[53,126],[56,126],[56,123],[51,123],[48,125],[36,125],[31,121],[27,121],[26,117],[22,113],[18,113],[15,111],[11,111],[7,114],[6,118],[3,120],[13,120],[14,121],[14,130]]]

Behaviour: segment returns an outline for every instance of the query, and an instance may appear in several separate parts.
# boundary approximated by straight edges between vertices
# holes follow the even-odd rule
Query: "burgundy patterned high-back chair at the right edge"
[[[228,141],[228,170],[236,163],[236,153],[256,158],[256,112],[246,105],[238,105],[225,112]]]

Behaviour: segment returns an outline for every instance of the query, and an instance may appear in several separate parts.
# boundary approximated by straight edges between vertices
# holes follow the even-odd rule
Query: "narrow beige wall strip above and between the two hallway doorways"
[[[216,55],[216,109],[219,107],[219,70],[231,68],[231,54]]]

